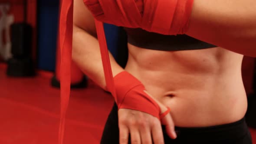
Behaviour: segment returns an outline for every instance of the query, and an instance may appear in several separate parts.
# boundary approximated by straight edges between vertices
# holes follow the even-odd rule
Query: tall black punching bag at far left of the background
[[[11,54],[8,59],[8,76],[33,76],[35,68],[32,58],[32,33],[33,28],[27,23],[27,3],[23,0],[24,20],[20,23],[13,23],[10,27],[11,32]]]

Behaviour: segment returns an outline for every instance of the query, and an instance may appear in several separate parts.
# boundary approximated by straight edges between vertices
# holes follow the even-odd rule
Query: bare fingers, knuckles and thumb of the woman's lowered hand
[[[151,98],[153,97],[151,96]],[[162,113],[167,111],[166,106],[157,100],[155,101]],[[120,108],[118,110],[118,125],[120,144],[128,144],[129,135],[131,136],[131,144],[164,144],[161,125],[165,125],[169,137],[172,139],[177,137],[170,113],[160,121],[158,118],[141,111]]]

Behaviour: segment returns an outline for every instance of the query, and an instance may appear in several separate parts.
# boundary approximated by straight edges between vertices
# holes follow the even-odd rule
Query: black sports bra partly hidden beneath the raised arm
[[[177,51],[217,47],[187,35],[167,36],[151,33],[143,29],[124,29],[128,36],[128,43],[144,49]]]

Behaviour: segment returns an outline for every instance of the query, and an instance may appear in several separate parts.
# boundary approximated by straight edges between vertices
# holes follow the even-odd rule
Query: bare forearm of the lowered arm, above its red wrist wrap
[[[109,52],[113,76],[123,71]],[[72,59],[100,87],[106,89],[98,40],[85,30],[74,26]]]

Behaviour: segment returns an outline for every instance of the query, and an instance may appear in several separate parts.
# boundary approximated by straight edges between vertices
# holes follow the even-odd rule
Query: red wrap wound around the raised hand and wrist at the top
[[[84,0],[93,16],[117,26],[165,35],[184,34],[194,0]]]

